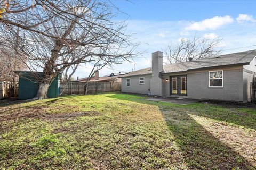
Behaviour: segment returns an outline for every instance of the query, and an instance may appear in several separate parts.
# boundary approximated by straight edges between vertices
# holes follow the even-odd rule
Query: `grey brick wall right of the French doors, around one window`
[[[223,70],[223,87],[209,87],[209,71]],[[191,71],[187,74],[188,98],[244,101],[243,66]]]

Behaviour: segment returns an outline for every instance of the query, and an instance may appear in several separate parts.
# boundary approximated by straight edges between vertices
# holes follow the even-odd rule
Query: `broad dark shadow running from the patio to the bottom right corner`
[[[246,160],[238,152],[215,138],[210,132],[190,117],[190,111],[184,106],[163,108],[159,103],[136,100],[131,96],[110,96],[121,100],[129,100],[142,104],[158,105],[166,125],[174,135],[175,143],[185,156],[187,166],[191,169],[255,169],[255,165]],[[186,107],[186,106],[185,106]],[[194,114],[195,112],[193,112]]]

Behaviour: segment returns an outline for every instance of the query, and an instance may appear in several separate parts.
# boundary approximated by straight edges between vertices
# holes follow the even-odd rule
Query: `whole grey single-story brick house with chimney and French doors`
[[[163,65],[152,53],[152,67],[122,76],[122,92],[194,99],[250,101],[256,50]]]

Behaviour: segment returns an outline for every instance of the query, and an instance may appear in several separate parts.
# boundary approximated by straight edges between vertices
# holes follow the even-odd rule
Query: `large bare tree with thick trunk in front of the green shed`
[[[35,98],[47,98],[52,80],[70,67],[97,61],[119,64],[139,55],[134,52],[138,44],[125,33],[125,22],[114,21],[119,10],[109,1],[13,0],[7,4],[0,18],[0,36],[19,55],[26,55],[23,62],[39,83]],[[36,74],[38,70],[43,77]]]

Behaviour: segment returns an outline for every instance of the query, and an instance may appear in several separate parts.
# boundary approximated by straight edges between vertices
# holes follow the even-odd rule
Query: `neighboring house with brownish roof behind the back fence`
[[[116,82],[116,83],[121,83],[121,76],[125,75],[127,73],[111,73],[109,75],[104,75],[102,77],[99,77],[99,71],[95,72],[95,74],[91,77],[91,79],[89,80],[89,82]],[[87,81],[87,77],[86,78],[81,78],[77,80],[74,80],[73,82],[86,82]]]

